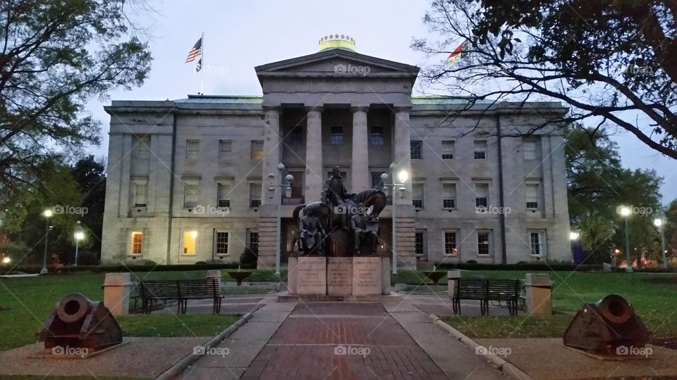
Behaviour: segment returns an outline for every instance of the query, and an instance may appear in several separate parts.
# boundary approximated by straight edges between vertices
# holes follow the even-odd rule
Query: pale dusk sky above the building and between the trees
[[[184,63],[190,48],[205,33],[204,92],[207,95],[261,95],[254,67],[317,51],[320,37],[348,34],[357,51],[413,65],[428,61],[410,49],[414,37],[426,37],[422,23],[427,0],[372,1],[150,1],[157,13],[139,15],[150,26],[154,58],[150,77],[132,91],[114,91],[106,101],[92,101],[90,111],[102,121],[102,145],[90,151],[97,157],[108,151],[109,117],[103,106],[115,100],[181,99],[200,90],[194,63]],[[634,121],[632,117],[630,120]],[[661,156],[626,132],[613,139],[623,165],[651,168],[663,177],[663,203],[677,198],[677,163]]]

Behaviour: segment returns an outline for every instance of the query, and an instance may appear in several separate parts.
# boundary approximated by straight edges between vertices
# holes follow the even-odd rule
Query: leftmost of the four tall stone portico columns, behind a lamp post
[[[280,112],[276,107],[264,108],[265,127],[263,131],[263,161],[261,171],[261,203],[274,204],[275,200],[268,197],[268,175],[278,175],[277,164],[280,163]]]

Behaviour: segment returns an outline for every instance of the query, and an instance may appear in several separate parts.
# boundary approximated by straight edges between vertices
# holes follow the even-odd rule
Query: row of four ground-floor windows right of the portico
[[[532,255],[546,255],[546,232],[542,229],[529,230],[529,248]],[[415,232],[415,253],[418,257],[427,255],[425,231]],[[477,230],[475,232],[475,243],[477,243],[477,255],[491,256],[494,254],[493,231]],[[467,241],[467,239],[464,239]],[[458,231],[445,231],[443,250],[445,255],[458,256],[461,249],[461,241],[458,240]]]

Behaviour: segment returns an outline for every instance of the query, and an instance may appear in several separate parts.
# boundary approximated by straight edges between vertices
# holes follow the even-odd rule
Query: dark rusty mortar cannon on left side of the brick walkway
[[[51,312],[40,331],[40,341],[48,352],[69,347],[92,353],[122,343],[122,330],[104,303],[72,293],[61,298]]]

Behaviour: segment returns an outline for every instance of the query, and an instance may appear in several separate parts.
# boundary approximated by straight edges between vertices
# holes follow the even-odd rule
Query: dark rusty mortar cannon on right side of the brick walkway
[[[628,301],[609,294],[586,303],[564,331],[564,346],[599,355],[617,355],[628,347],[643,348],[649,331]]]

